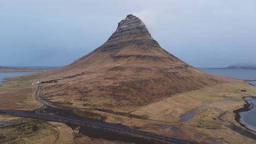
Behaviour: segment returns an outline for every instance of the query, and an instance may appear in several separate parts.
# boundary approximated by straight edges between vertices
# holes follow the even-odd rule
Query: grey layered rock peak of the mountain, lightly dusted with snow
[[[130,14],[127,15],[124,20],[118,23],[117,30],[109,37],[108,41],[120,39],[120,37],[125,37],[127,35],[149,35],[146,25],[138,17]]]

